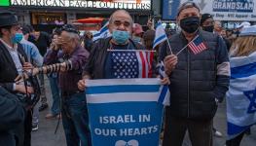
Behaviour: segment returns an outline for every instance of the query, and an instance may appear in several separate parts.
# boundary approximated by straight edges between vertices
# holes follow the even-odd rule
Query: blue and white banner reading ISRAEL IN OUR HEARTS
[[[159,79],[89,80],[87,85],[93,146],[159,146],[169,96]]]

